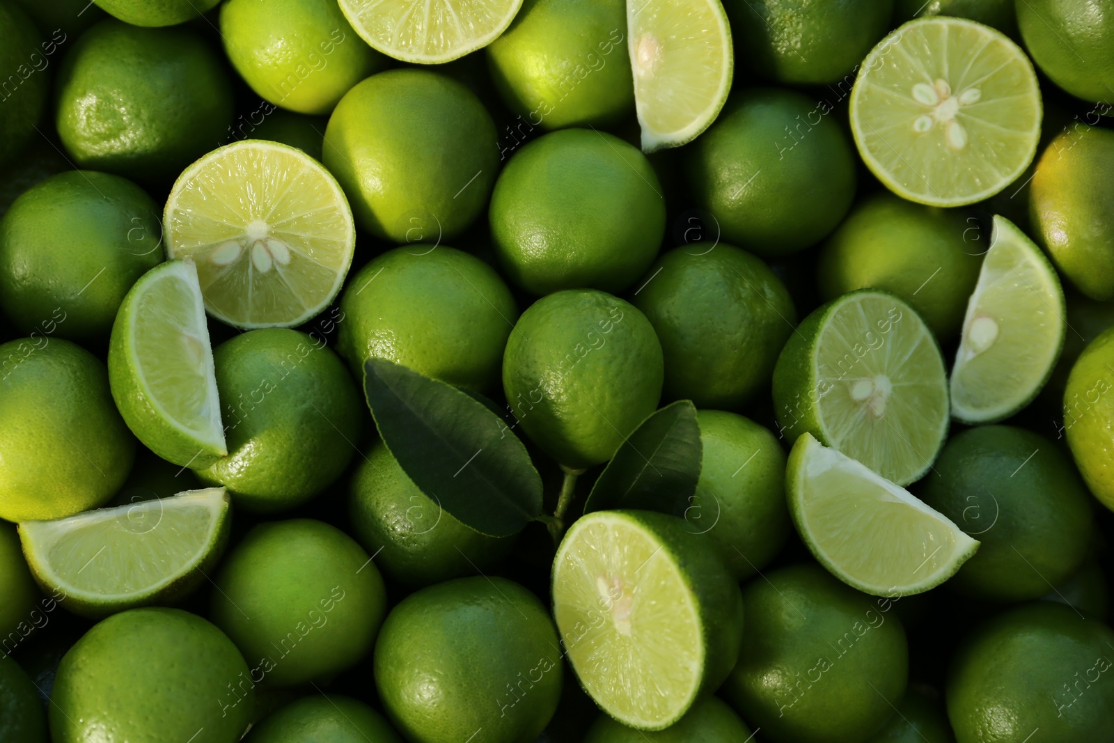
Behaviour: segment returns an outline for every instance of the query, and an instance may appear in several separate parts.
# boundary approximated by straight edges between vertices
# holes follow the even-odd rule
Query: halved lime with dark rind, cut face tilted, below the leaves
[[[704,535],[651,511],[575,521],[554,559],[554,616],[580,684],[624,725],[662,730],[734,666],[739,586]]]

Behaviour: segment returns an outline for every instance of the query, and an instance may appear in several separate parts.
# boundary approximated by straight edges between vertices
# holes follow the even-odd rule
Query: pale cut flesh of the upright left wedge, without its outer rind
[[[226,452],[197,271],[189,262],[168,263],[144,283],[130,309],[133,368],[167,420]]]

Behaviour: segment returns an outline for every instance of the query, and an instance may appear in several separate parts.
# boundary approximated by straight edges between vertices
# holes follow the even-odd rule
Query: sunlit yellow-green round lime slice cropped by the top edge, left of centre
[[[515,20],[522,0],[340,0],[360,38],[388,57],[437,65],[482,49]]]

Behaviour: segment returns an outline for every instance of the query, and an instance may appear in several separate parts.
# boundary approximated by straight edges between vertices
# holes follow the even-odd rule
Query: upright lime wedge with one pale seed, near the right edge
[[[993,423],[1027,405],[1059,358],[1066,312],[1048,258],[1014,223],[995,216],[951,370],[951,416]]]

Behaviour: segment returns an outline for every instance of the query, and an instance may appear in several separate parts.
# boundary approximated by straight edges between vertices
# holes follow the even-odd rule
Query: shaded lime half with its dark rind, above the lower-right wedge
[[[783,434],[808,432],[906,486],[948,431],[948,380],[932,331],[889,292],[844,294],[804,319],[778,358]]]

